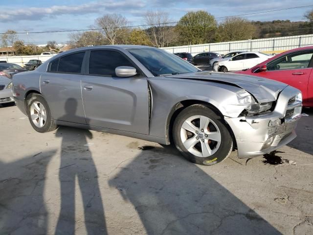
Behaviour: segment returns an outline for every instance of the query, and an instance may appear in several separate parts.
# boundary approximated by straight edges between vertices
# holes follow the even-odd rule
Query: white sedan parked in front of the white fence
[[[213,70],[221,72],[245,70],[260,64],[271,57],[272,55],[262,52],[244,52],[235,55],[228,60],[216,63]]]

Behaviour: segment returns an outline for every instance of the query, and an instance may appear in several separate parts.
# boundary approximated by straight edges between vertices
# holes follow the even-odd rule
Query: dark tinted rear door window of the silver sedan
[[[50,72],[68,72],[68,73],[80,73],[82,70],[82,64],[85,52],[74,53],[61,57],[60,59],[53,60],[50,63]]]

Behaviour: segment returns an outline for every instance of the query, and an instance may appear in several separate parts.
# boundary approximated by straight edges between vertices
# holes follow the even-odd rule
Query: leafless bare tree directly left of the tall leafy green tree
[[[173,35],[175,32],[169,24],[171,20],[168,13],[163,11],[147,11],[144,18],[146,24],[149,24],[147,32],[151,43],[155,47],[167,46],[177,38]]]

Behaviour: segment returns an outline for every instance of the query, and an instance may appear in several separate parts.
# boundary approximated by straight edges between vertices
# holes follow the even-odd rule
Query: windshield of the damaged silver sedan
[[[157,48],[132,48],[128,51],[154,76],[201,71],[174,54]]]

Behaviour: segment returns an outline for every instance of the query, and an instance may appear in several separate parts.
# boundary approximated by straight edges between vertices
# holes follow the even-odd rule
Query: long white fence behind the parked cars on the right
[[[209,43],[180,47],[162,47],[168,52],[189,52],[192,55],[204,51],[218,52],[226,54],[234,50],[247,50],[247,51],[281,51],[290,50],[297,47],[304,47],[313,45],[313,34],[279,37],[279,38],[266,38],[266,39],[253,39],[224,43]]]

